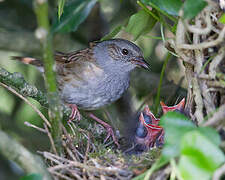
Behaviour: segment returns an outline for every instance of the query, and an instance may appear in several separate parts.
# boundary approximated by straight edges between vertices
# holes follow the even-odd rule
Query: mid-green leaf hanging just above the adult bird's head
[[[140,35],[144,35],[151,31],[156,20],[145,10],[140,10],[132,15],[129,19],[126,31],[133,35],[136,40]]]

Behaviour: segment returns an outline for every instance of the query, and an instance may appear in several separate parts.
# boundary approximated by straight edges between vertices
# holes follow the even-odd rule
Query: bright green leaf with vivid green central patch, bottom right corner
[[[183,136],[179,170],[184,180],[210,179],[225,162],[223,152],[198,130]]]

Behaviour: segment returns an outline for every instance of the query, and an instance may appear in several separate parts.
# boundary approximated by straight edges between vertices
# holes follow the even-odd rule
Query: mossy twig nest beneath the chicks
[[[73,123],[70,128],[68,133],[63,127],[61,154],[54,150],[39,152],[54,179],[131,179],[147,170],[160,154],[153,149],[142,156],[127,156],[105,145],[96,145],[90,132]]]

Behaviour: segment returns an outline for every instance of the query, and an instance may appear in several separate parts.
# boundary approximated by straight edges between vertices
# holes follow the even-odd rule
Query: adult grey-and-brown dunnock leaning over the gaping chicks
[[[136,66],[149,67],[140,48],[124,39],[90,43],[89,48],[71,53],[58,52],[54,58],[60,97],[72,107],[72,118],[79,117],[77,106],[94,110],[116,101],[129,87],[130,72]],[[14,59],[44,71],[40,60]],[[111,130],[102,124],[108,132]]]

